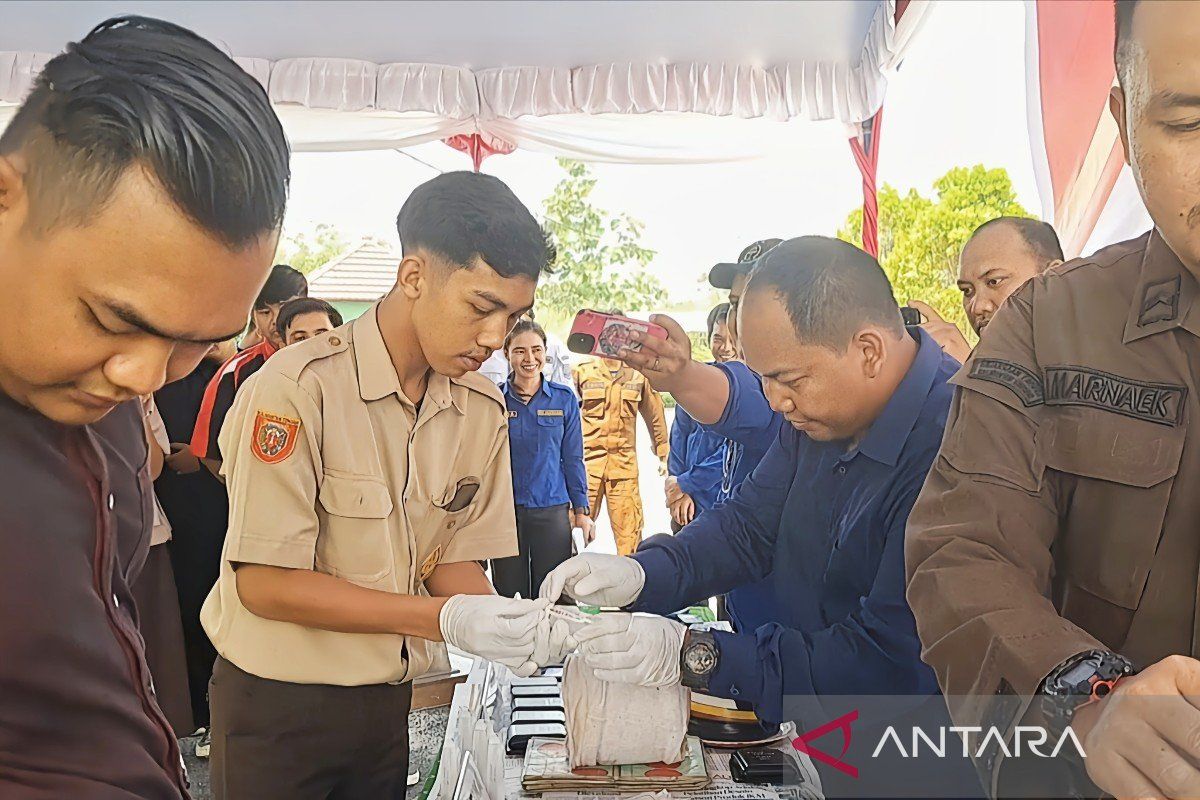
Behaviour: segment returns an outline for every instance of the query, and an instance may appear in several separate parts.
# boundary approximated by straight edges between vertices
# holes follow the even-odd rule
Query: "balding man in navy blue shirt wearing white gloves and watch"
[[[542,595],[662,614],[772,572],[780,602],[756,630],[611,614],[576,638],[606,680],[682,679],[768,722],[782,721],[788,694],[936,693],[905,602],[904,530],[958,363],[905,329],[875,259],[821,236],[758,260],[740,323],[746,360],[788,422],[758,468],[679,535],[628,559],[576,557]]]

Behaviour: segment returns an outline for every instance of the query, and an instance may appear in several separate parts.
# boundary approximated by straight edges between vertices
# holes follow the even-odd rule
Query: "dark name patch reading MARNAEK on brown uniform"
[[[1132,380],[1087,367],[1046,367],[1046,405],[1087,405],[1135,420],[1176,426],[1186,386]]]

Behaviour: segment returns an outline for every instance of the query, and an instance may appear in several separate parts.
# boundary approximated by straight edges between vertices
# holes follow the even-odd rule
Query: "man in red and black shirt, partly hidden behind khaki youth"
[[[287,264],[276,264],[266,278],[263,290],[254,300],[252,332],[258,341],[221,365],[217,374],[209,381],[200,401],[200,413],[196,417],[196,429],[192,432],[192,455],[200,458],[215,475],[221,464],[221,447],[217,434],[224,417],[233,405],[238,387],[247,378],[258,372],[266,360],[283,347],[283,339],[276,326],[280,308],[288,300],[308,296],[308,281],[304,273]]]

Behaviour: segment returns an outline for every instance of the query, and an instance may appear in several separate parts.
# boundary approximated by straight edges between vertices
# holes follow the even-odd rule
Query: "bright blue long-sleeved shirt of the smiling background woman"
[[[580,402],[562,384],[542,379],[528,404],[512,385],[500,385],[509,409],[509,452],[512,457],[512,499],[518,506],[548,509],[570,503],[588,505],[588,474],[583,468]]]

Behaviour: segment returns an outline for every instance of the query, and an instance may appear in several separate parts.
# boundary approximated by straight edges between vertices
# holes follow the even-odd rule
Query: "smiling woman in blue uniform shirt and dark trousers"
[[[492,583],[509,597],[536,597],[551,570],[571,557],[571,524],[594,536],[583,469],[580,405],[568,386],[546,380],[546,332],[522,319],[504,341],[510,373],[500,385],[509,409],[512,495],[520,552],[492,560]]]

